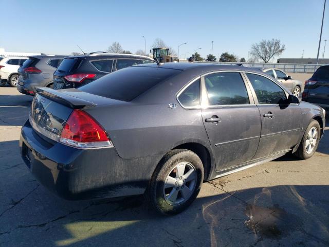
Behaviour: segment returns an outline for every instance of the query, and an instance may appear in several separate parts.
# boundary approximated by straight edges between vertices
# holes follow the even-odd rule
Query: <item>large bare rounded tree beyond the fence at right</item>
[[[284,44],[281,44],[278,39],[262,40],[251,45],[250,54],[254,58],[259,58],[267,63],[271,58],[279,56],[284,50]]]

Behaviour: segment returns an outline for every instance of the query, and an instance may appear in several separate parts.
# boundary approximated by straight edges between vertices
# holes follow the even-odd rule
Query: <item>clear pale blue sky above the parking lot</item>
[[[328,2],[328,1],[327,1]],[[247,59],[251,44],[280,39],[282,57],[316,57],[324,0],[276,1],[18,1],[0,0],[0,47],[6,51],[70,54],[105,50],[112,42],[135,52],[156,38],[180,54],[228,51]],[[322,40],[329,57],[329,3]],[[14,14],[16,13],[16,15]],[[322,57],[321,44],[320,57]],[[188,52],[188,53],[187,53]]]

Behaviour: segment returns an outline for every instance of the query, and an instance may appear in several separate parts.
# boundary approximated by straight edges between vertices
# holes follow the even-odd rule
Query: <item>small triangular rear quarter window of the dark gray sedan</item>
[[[200,79],[194,81],[177,97],[183,107],[197,107],[200,105]]]

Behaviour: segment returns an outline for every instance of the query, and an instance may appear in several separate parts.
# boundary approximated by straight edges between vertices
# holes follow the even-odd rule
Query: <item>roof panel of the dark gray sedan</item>
[[[211,72],[214,70],[244,70],[250,72],[259,72],[259,69],[255,69],[253,67],[244,67],[237,65],[224,65],[224,64],[216,64],[216,63],[187,63],[187,62],[178,62],[178,63],[161,63],[158,64],[140,64],[135,65],[136,67],[160,67],[160,68],[170,68],[170,69],[178,69],[178,70],[196,70],[197,72]]]

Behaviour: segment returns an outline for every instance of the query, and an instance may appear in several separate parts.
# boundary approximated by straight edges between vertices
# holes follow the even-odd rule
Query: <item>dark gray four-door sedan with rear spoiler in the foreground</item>
[[[79,89],[38,89],[20,149],[36,179],[63,198],[145,193],[173,215],[203,181],[289,152],[311,157],[324,116],[257,69],[143,64]]]

